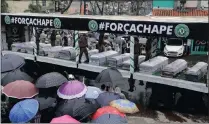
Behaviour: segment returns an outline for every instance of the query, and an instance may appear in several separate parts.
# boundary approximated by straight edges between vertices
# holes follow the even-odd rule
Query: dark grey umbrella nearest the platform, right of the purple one
[[[129,88],[128,82],[124,80],[122,74],[116,68],[108,68],[103,70],[96,78],[96,83],[118,86],[121,89]]]

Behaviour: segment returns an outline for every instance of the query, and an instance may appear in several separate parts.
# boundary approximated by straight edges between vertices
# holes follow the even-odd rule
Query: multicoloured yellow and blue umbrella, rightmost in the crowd
[[[110,105],[112,107],[117,108],[119,111],[123,113],[133,114],[133,113],[139,112],[139,109],[137,108],[136,104],[126,99],[114,100],[110,102]]]

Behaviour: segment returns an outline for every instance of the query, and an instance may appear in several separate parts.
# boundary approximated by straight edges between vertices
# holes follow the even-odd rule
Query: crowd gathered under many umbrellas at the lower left
[[[27,62],[18,55],[6,54],[2,61],[2,123],[53,123],[66,116],[71,116],[78,123],[106,123],[100,119],[107,114],[109,122],[113,123],[116,119],[127,123],[125,113],[139,111],[136,104],[127,99],[129,96],[121,91],[119,85],[124,84],[122,76],[116,74],[114,79],[107,76],[111,71],[120,73],[116,68],[106,69],[107,73],[101,72],[92,86],[67,72],[64,72],[66,75],[37,72],[40,73],[38,77],[30,76],[26,71],[30,70],[30,66],[25,66]],[[10,67],[11,63],[15,63],[14,66]],[[119,84],[115,85],[116,81]],[[101,87],[98,88],[97,84]],[[104,110],[106,113],[101,115]],[[113,118],[116,111],[123,117]],[[62,120],[60,123],[66,122]]]

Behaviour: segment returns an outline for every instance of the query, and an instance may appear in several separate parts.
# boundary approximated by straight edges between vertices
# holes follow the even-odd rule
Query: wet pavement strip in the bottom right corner
[[[147,110],[134,115],[128,115],[129,124],[152,124],[152,123],[209,123],[206,115],[190,115],[173,111]]]

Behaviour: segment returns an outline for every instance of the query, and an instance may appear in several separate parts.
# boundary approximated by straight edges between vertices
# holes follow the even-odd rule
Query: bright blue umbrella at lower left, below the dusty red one
[[[13,106],[9,113],[12,123],[26,123],[36,116],[39,103],[35,99],[26,99]]]

